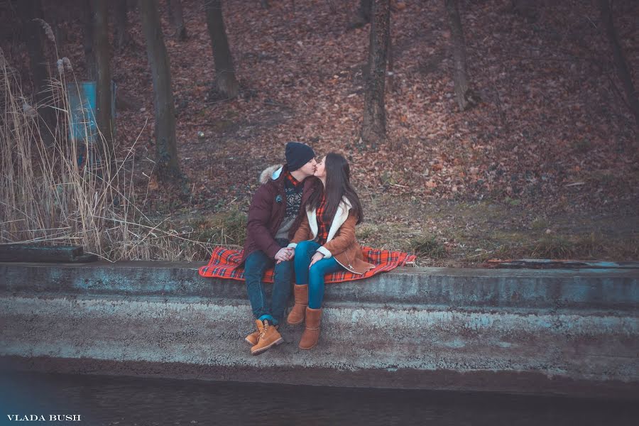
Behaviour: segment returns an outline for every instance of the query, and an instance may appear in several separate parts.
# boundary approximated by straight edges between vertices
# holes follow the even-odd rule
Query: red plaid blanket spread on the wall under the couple
[[[371,247],[362,247],[364,260],[373,263],[375,268],[359,275],[349,271],[339,271],[327,275],[325,283],[341,283],[342,281],[361,280],[372,277],[376,273],[391,271],[398,266],[404,266],[408,262],[414,262],[415,256],[401,251],[378,250]],[[211,260],[207,266],[202,266],[198,273],[203,277],[230,278],[231,280],[244,281],[244,268],[238,268],[242,258],[242,251],[224,249],[216,247],[213,250]],[[265,283],[273,283],[273,268],[269,268],[264,273]]]

